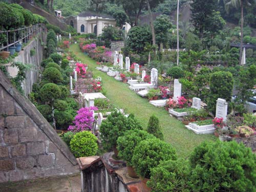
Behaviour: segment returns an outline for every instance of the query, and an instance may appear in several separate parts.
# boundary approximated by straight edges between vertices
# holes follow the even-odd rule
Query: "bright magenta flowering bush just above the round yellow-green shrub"
[[[68,130],[71,132],[92,130],[94,121],[94,110],[98,110],[98,108],[96,108],[95,106],[91,106],[90,108],[81,108],[80,110],[78,110],[77,115],[75,116],[75,121],[73,121],[75,125],[70,125]]]

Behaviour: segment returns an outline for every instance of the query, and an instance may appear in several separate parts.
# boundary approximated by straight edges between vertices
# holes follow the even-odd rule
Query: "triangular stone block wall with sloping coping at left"
[[[0,71],[0,183],[78,172],[66,143]]]

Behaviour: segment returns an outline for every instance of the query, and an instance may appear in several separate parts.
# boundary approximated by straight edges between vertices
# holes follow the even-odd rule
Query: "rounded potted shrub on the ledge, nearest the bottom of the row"
[[[145,178],[151,177],[151,169],[161,161],[176,160],[175,148],[160,139],[142,140],[134,149],[132,163],[135,172]]]

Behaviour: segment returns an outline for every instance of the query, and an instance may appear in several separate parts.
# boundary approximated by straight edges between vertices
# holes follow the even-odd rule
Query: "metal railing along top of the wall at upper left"
[[[0,31],[0,51],[9,51],[9,47],[14,46],[20,41],[26,44],[32,37],[42,31],[46,31],[45,24],[36,24],[20,29]]]

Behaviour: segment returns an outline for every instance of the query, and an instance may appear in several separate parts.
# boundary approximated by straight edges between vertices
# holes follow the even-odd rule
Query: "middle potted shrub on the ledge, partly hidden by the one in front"
[[[149,134],[142,130],[129,130],[124,133],[124,136],[117,139],[118,156],[127,162],[127,165],[133,166],[132,157],[134,148],[140,141],[155,138],[152,134]]]

